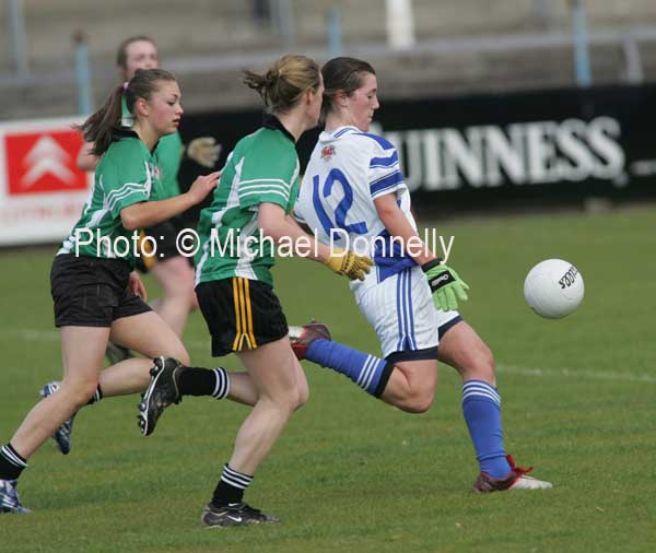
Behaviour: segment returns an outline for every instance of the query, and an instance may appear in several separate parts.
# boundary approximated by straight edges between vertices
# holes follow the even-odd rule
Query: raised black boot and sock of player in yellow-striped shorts
[[[151,435],[164,410],[179,403],[183,396],[224,399],[229,393],[230,376],[225,368],[187,367],[173,357],[156,357],[151,381],[139,403],[139,428],[144,436]]]

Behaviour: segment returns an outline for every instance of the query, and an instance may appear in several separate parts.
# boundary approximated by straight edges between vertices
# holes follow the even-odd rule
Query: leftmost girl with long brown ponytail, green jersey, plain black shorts
[[[124,93],[136,119],[132,129],[119,128]],[[213,173],[199,177],[185,195],[157,201],[161,185],[152,153],[161,137],[175,132],[181,114],[174,75],[151,69],[138,71],[127,86],[116,86],[81,127],[103,158],[80,221],[50,272],[63,379],[0,449],[0,513],[28,511],[16,494],[17,479],[32,454],[73,413],[103,395],[147,387],[150,358],[130,358],[102,370],[109,338],[147,357],[172,355],[188,362],[179,338],[145,304],[129,247],[134,230],[189,209],[216,186],[219,174]]]

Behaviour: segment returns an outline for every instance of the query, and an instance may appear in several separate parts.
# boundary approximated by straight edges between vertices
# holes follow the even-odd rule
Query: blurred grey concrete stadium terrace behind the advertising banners
[[[9,22],[9,2],[0,7]],[[481,16],[478,0],[414,0],[418,44],[394,52],[385,44],[384,0],[296,0],[294,37],[262,28],[243,0],[23,0],[30,73],[12,68],[10,33],[0,48],[0,120],[71,114],[77,109],[72,35],[89,42],[96,105],[115,82],[119,38],[153,36],[174,70],[190,110],[253,106],[239,69],[263,66],[288,50],[326,59],[326,12],[341,14],[344,51],[376,62],[386,97],[567,86],[574,84],[571,19],[565,0],[497,0]],[[588,2],[595,84],[626,81],[626,37],[639,46],[646,80],[656,75],[656,3]],[[9,23],[7,23],[9,24]]]

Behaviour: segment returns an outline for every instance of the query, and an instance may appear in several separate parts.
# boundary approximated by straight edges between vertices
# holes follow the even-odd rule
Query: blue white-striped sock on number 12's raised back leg
[[[394,369],[394,365],[385,360],[325,339],[312,342],[305,358],[348,376],[376,398],[385,390]]]

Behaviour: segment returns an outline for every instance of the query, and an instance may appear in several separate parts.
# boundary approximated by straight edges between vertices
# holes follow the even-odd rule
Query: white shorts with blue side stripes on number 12
[[[440,330],[460,320],[458,311],[435,308],[426,278],[411,267],[380,283],[354,290],[355,302],[374,327],[383,356],[437,348]]]

